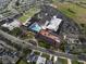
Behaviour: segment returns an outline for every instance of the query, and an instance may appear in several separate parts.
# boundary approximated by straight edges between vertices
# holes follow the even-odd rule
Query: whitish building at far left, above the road
[[[15,27],[20,27],[22,24],[17,20],[14,20],[12,23],[5,23],[2,27],[7,27],[8,29],[12,30]]]

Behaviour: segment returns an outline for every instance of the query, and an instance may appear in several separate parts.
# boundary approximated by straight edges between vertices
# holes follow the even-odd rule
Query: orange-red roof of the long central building
[[[58,36],[52,35],[51,33],[49,33],[49,31],[47,31],[47,30],[45,30],[45,29],[40,30],[39,34],[42,35],[42,36],[46,36],[47,38],[50,38],[50,39],[52,39],[52,40],[54,40],[54,41],[57,41],[57,42],[60,42],[60,39],[59,39]]]

